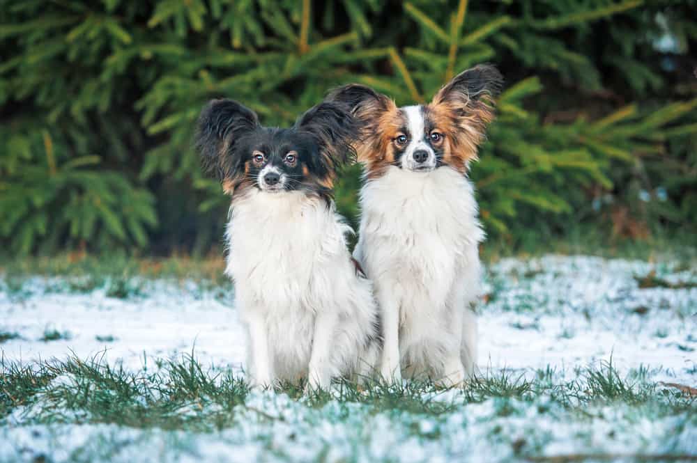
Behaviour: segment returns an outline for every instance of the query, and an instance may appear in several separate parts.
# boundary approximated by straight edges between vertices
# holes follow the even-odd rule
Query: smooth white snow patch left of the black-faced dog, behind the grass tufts
[[[105,352],[107,361],[138,370],[193,351],[201,363],[242,368],[242,327],[231,305],[218,300],[231,297],[216,298],[192,283],[145,282],[144,296],[127,299],[107,297],[104,289],[47,291],[56,288],[50,283],[32,278],[22,289],[29,295],[0,293],[0,331],[20,335],[0,345],[6,359],[64,359],[72,352],[86,359]],[[46,331],[67,338],[45,342]]]

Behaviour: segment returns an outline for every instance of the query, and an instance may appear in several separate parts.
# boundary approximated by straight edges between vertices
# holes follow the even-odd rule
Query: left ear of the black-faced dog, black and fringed
[[[199,116],[196,134],[204,170],[215,173],[222,182],[232,181],[241,162],[236,143],[257,127],[256,113],[242,104],[228,99],[208,102]]]

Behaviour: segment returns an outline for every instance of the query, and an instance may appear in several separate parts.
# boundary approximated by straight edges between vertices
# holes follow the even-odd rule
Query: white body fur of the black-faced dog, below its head
[[[233,198],[226,273],[239,283],[252,385],[307,377],[325,389],[332,377],[372,370],[378,309],[371,283],[355,274],[346,233],[333,203],[301,191]]]

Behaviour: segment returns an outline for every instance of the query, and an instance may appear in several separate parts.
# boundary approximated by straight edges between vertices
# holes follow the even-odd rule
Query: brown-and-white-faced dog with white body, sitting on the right
[[[477,360],[478,245],[484,231],[466,177],[503,78],[491,65],[454,77],[425,105],[398,108],[357,84],[328,101],[364,123],[360,239],[354,257],[381,308],[385,379],[427,375],[460,384]]]

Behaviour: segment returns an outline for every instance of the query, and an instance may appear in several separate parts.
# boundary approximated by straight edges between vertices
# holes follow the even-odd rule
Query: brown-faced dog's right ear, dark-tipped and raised
[[[447,104],[461,115],[480,118],[489,123],[493,118],[493,99],[498,96],[503,86],[503,76],[490,64],[480,64],[468,69],[445,84],[436,96],[433,104]]]

